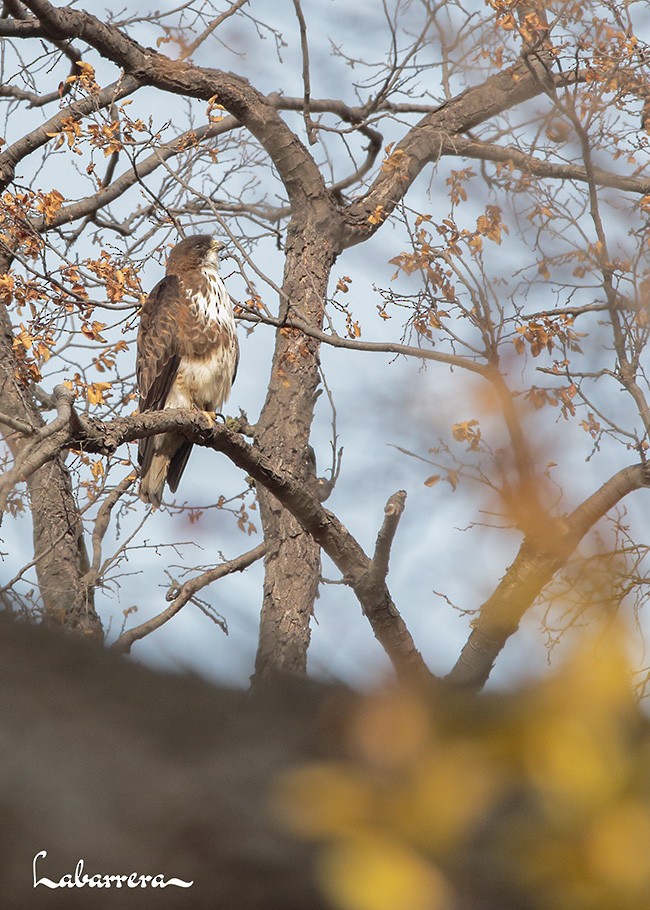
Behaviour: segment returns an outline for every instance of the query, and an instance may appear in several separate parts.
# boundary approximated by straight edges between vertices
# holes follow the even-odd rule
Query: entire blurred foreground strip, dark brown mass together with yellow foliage
[[[519,694],[362,697],[0,633],[3,908],[650,907],[650,737],[615,635]],[[34,888],[41,851],[55,882],[83,860],[193,885]]]

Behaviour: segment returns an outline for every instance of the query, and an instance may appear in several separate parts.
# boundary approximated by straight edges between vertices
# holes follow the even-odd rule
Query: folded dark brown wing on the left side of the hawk
[[[135,367],[141,412],[159,411],[165,406],[180,362],[177,326],[181,307],[180,287],[174,275],[159,281],[142,307]],[[138,443],[138,461],[145,473],[152,447],[152,436]]]

